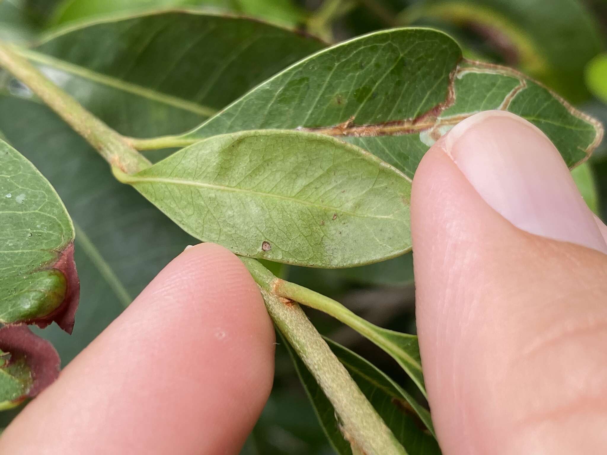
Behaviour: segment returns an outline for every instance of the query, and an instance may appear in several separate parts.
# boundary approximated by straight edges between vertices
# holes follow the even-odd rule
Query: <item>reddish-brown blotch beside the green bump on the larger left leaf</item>
[[[78,300],[80,300],[80,279],[78,278],[76,263],[74,262],[73,243],[68,244],[61,251],[59,258],[52,265],[52,268],[60,271],[66,277],[66,297],[64,297],[63,303],[52,313],[25,322],[35,324],[39,328],[44,329],[55,321],[59,327],[71,335],[74,328],[76,309],[78,309]]]

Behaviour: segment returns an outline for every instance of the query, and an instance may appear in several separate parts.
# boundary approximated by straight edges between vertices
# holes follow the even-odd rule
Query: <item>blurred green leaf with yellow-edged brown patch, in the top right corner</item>
[[[519,66],[579,102],[584,68],[602,49],[597,22],[578,0],[426,0],[418,13],[467,29]]]

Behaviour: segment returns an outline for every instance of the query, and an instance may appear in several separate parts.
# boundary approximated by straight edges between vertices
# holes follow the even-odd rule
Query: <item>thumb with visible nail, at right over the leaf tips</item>
[[[444,455],[607,453],[598,223],[552,143],[510,113],[475,115],[426,153],[416,316]]]

